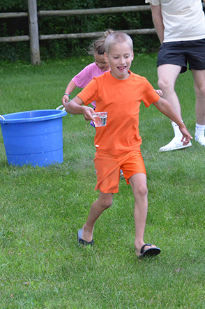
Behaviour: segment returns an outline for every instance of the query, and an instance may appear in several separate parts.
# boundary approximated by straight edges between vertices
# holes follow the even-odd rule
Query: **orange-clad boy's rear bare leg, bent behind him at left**
[[[98,199],[91,205],[89,216],[82,228],[82,239],[84,239],[85,241],[92,241],[93,229],[96,220],[100,217],[101,213],[105,211],[105,209],[112,206],[112,197],[113,193],[102,193],[100,191]]]

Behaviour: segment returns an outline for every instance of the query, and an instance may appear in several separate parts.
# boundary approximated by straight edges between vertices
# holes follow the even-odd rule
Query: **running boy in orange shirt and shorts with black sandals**
[[[70,114],[83,114],[93,120],[89,105],[96,100],[95,112],[108,112],[107,125],[96,128],[94,159],[97,185],[100,191],[93,202],[86,223],[77,232],[79,243],[93,245],[93,229],[96,220],[112,205],[113,194],[119,190],[119,172],[130,183],[135,197],[135,253],[138,257],[158,255],[160,248],[144,243],[147,214],[146,170],[140,151],[139,106],[151,103],[160,112],[175,121],[183,134],[183,143],[190,142],[190,134],[167,100],[160,98],[145,77],[130,72],[133,59],[132,39],[126,33],[114,31],[105,40],[105,59],[111,70],[93,80],[68,105]],[[84,105],[85,106],[84,106]]]

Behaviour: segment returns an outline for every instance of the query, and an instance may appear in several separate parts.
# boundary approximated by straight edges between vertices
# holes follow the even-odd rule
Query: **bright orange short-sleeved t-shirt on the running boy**
[[[139,149],[139,106],[156,103],[160,96],[145,77],[130,72],[126,80],[117,80],[110,72],[94,77],[77,94],[84,105],[96,100],[95,112],[108,112],[107,125],[96,128],[97,151],[119,155]]]

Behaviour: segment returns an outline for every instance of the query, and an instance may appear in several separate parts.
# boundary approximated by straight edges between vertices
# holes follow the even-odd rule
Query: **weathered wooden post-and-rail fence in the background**
[[[0,13],[1,18],[17,18],[17,17],[28,17],[29,22],[29,36],[10,36],[1,37],[0,43],[3,42],[20,42],[30,41],[31,50],[31,64],[40,64],[40,49],[39,40],[53,40],[63,38],[95,38],[102,36],[104,32],[92,32],[92,33],[68,33],[68,34],[50,34],[40,35],[38,34],[38,17],[44,16],[73,16],[73,15],[96,15],[96,14],[112,14],[112,13],[126,13],[126,12],[137,12],[150,10],[149,5],[145,6],[121,6],[114,8],[93,8],[86,10],[40,10],[37,12],[36,0],[28,0],[28,13]],[[155,29],[132,29],[123,30],[128,34],[146,34],[155,33]]]

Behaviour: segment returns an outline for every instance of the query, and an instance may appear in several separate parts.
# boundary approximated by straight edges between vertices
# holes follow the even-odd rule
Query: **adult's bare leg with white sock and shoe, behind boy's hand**
[[[161,66],[158,66],[158,86],[163,92],[162,97],[172,105],[176,114],[182,119],[179,98],[174,90],[176,79],[180,72],[181,66],[176,66],[174,64],[162,64]],[[171,151],[191,146],[191,142],[188,145],[183,146],[183,143],[181,142],[181,131],[174,121],[172,121],[172,127],[174,129],[174,138],[169,144],[162,146],[160,151]]]

